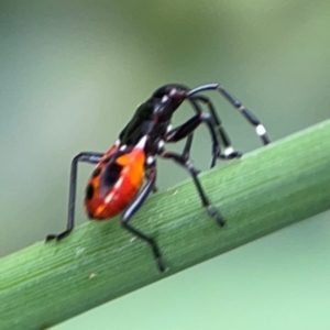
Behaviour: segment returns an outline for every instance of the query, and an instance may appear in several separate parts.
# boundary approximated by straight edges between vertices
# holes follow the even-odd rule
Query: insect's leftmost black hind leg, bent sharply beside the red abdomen
[[[67,237],[75,227],[75,202],[76,202],[78,163],[80,162],[80,163],[98,164],[102,158],[102,156],[103,154],[100,153],[82,152],[74,157],[72,162],[72,170],[70,170],[67,228],[64,232],[59,234],[48,234],[46,237],[46,242],[51,240],[61,241],[62,239]]]

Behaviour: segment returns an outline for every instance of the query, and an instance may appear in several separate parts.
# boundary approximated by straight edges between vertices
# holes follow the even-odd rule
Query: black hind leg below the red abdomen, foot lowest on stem
[[[146,242],[151,246],[160,272],[164,272],[165,266],[164,266],[164,263],[162,261],[162,255],[161,255],[160,248],[158,248],[157,243],[155,242],[155,240],[153,238],[146,235],[145,233],[141,232],[140,230],[135,229],[134,227],[132,227],[130,224],[130,220],[132,219],[134,213],[140,209],[140,207],[142,206],[142,204],[144,202],[146,197],[151,194],[151,191],[153,190],[153,187],[155,185],[155,182],[156,182],[156,166],[155,166],[155,163],[153,163],[152,165],[148,165],[148,166],[150,166],[150,168],[148,168],[150,174],[148,174],[147,183],[142,188],[140,194],[135,197],[133,202],[123,212],[123,215],[121,217],[121,224],[130,233],[132,233],[133,235],[135,235],[139,239],[143,240],[144,242]]]

